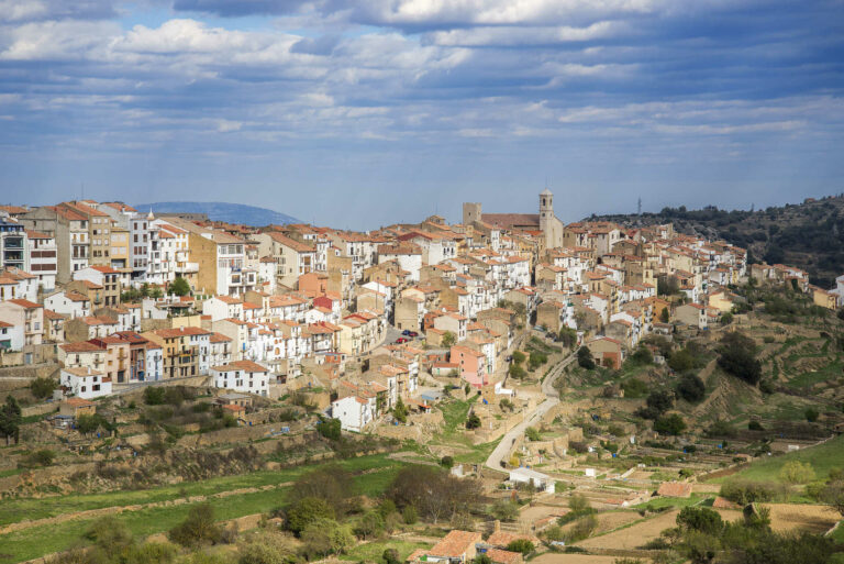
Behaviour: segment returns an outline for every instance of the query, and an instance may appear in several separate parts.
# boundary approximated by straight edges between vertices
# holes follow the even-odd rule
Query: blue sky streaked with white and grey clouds
[[[0,0],[0,201],[375,229],[844,191],[844,0]]]

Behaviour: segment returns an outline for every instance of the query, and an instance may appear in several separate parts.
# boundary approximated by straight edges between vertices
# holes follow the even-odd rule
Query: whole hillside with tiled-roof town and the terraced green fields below
[[[0,563],[109,529],[244,564],[693,560],[688,508],[833,530],[844,275],[553,198],[369,232],[0,207]]]

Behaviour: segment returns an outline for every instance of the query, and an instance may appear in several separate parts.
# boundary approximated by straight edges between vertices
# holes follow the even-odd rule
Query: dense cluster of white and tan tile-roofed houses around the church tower
[[[706,329],[751,274],[728,243],[670,224],[565,225],[552,202],[544,190],[538,214],[466,203],[460,223],[365,233],[93,200],[0,207],[0,363],[59,363],[65,392],[85,399],[197,376],[227,394],[319,387],[363,431],[399,402],[430,409],[423,373],[500,384],[533,320],[618,366],[649,333]],[[752,274],[810,289],[799,269]],[[682,303],[657,297],[660,285]],[[843,287],[829,292],[837,302]]]

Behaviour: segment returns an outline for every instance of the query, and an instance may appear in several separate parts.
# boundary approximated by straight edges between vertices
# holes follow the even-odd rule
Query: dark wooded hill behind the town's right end
[[[809,273],[810,281],[834,286],[844,274],[844,195],[764,210],[663,208],[658,213],[592,215],[637,226],[673,222],[680,233],[723,239],[748,248],[753,262],[788,264]]]

